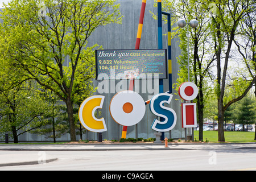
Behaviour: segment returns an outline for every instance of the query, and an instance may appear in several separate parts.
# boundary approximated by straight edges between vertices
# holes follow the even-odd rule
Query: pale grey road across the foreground
[[[89,171],[256,171],[255,148],[231,150],[123,150],[123,151],[0,151],[0,155],[39,155],[58,158],[49,163],[0,167],[0,170]]]

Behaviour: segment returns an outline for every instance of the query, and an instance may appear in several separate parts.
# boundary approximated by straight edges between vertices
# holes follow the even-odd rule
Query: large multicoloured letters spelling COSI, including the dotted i
[[[183,100],[193,100],[198,93],[197,86],[192,82],[184,82],[179,88],[179,95]],[[164,103],[170,105],[172,94],[159,93],[151,98],[149,107],[150,111],[163,119],[154,119],[151,129],[159,132],[172,130],[177,121],[177,115],[173,109],[164,106]],[[86,98],[79,108],[79,120],[81,125],[93,132],[107,131],[105,119],[96,118],[94,113],[97,109],[102,109],[105,96],[91,96]],[[183,109],[183,127],[195,127],[196,124],[196,107],[192,108],[188,104]],[[187,110],[186,110],[187,109]],[[115,94],[109,104],[109,110],[112,118],[119,125],[133,126],[139,123],[144,117],[146,111],[146,102],[136,92],[125,90]],[[186,123],[186,120],[189,121]]]

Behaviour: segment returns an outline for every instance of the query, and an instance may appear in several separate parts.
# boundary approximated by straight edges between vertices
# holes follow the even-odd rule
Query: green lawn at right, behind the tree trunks
[[[246,143],[246,142],[256,142],[254,139],[254,132],[246,131],[225,131],[225,141],[232,143]],[[194,138],[199,139],[199,131],[194,131]],[[204,131],[203,139],[209,142],[218,142],[218,131]]]

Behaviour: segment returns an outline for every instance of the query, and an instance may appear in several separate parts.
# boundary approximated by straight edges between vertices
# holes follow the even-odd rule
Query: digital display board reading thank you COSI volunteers
[[[95,55],[97,80],[167,78],[166,49],[102,49]]]

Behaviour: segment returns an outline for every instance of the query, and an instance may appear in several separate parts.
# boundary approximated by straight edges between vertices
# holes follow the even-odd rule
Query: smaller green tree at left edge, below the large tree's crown
[[[40,97],[36,82],[14,70],[4,54],[0,64],[0,131],[9,133],[18,143],[19,135],[45,124],[49,107]]]

